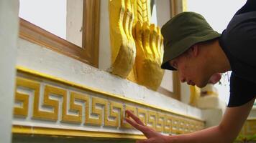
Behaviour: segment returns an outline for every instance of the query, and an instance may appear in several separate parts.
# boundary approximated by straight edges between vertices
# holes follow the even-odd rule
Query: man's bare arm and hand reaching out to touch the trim
[[[239,107],[228,107],[221,123],[216,127],[211,127],[204,129],[198,132],[193,132],[191,134],[180,134],[174,136],[164,136],[155,132],[154,130],[146,127],[142,122],[140,122],[137,117],[132,114],[132,112],[127,111],[128,117],[132,117],[133,120],[127,118],[127,122],[132,124],[133,127],[139,129],[147,139],[139,141],[140,143],[157,143],[157,142],[170,142],[170,143],[183,143],[183,142],[204,142],[204,143],[229,143],[233,142],[234,139],[239,134],[242,125],[252,109],[252,105],[255,102],[255,99],[252,99],[247,104],[244,104]]]

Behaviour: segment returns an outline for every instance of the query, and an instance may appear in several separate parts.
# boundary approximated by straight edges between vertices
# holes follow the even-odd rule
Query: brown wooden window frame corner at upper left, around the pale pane
[[[82,47],[19,18],[19,37],[99,68],[100,0],[83,0]]]

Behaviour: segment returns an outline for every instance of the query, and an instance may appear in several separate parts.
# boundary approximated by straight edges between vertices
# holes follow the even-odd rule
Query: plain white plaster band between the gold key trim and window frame
[[[18,41],[17,65],[201,119],[200,109],[23,39]]]

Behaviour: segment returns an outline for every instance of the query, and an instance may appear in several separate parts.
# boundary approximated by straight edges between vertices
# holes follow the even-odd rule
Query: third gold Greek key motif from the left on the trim
[[[83,106],[75,104],[75,100],[84,102],[88,104],[88,96],[84,94],[79,94],[77,92],[70,92],[70,110],[78,112],[78,116],[67,114],[67,99],[63,99],[63,117],[62,122],[75,122],[81,124],[83,116]]]

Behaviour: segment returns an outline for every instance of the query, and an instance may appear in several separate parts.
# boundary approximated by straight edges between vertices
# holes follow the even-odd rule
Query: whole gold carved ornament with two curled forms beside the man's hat
[[[109,1],[111,72],[157,90],[163,79],[163,36],[158,26],[150,24],[149,2]]]

